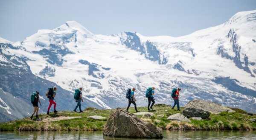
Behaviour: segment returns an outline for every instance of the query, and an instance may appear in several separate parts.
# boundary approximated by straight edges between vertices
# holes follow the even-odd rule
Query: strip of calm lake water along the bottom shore
[[[147,140],[105,137],[103,132],[0,132],[0,140]],[[163,131],[163,140],[256,140],[256,131]],[[152,139],[150,139],[152,140]]]

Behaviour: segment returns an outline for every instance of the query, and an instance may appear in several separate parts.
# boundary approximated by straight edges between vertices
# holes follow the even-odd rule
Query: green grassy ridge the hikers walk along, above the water
[[[169,130],[256,130],[256,123],[250,122],[250,118],[256,118],[255,114],[250,114],[238,109],[237,112],[221,112],[218,115],[211,114],[209,119],[191,120],[191,123],[187,122],[176,122],[167,120],[170,115],[179,113],[177,109],[171,109],[171,106],[165,104],[157,104],[154,106],[156,111],[152,112],[156,116],[151,116],[151,118],[143,118],[139,115],[139,118],[147,122],[154,123],[161,129]],[[184,108],[181,107],[181,110]],[[74,118],[68,120],[58,120],[52,122],[43,122],[30,120],[29,117],[14,120],[11,122],[0,123],[0,131],[102,131],[107,119],[94,120],[87,118],[87,116],[100,115],[108,118],[109,115],[116,109],[94,109],[87,108],[82,113],[61,111],[58,114],[53,112],[50,115],[40,114],[39,118],[56,118],[59,116],[70,116],[76,117],[81,116],[81,118]],[[146,107],[138,107],[140,112],[147,112]],[[236,109],[234,109],[236,110]],[[129,112],[135,113],[133,106],[129,109]],[[157,115],[163,114],[164,117],[157,117]],[[160,120],[159,123],[156,120]]]

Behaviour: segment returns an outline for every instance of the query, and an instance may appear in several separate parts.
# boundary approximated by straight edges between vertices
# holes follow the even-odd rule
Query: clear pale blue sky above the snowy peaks
[[[0,0],[0,37],[22,41],[68,20],[93,34],[177,37],[250,10],[256,10],[256,0]]]

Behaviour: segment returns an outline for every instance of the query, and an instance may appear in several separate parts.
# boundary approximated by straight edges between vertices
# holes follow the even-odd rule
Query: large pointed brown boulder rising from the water
[[[103,134],[110,137],[163,138],[154,124],[147,123],[128,111],[117,108],[105,125]]]

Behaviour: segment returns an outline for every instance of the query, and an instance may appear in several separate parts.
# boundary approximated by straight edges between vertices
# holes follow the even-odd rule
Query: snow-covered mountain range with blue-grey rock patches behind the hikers
[[[181,106],[203,99],[256,112],[256,10],[180,37],[95,35],[68,21],[53,30],[38,30],[22,42],[1,38],[0,45],[1,68],[7,63],[17,72],[27,67],[35,77],[70,93],[82,86],[93,107],[126,106],[128,87],[137,88],[137,104],[146,106],[145,90],[154,86],[157,103],[172,104],[172,88],[181,87]],[[4,86],[12,85],[0,86],[6,92]]]

